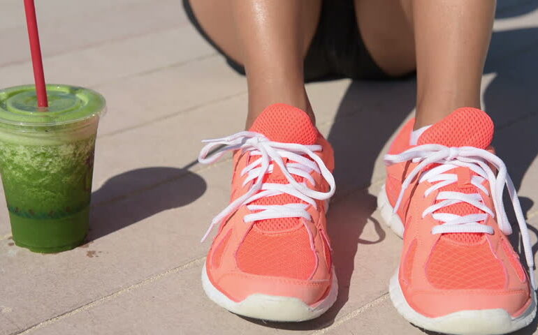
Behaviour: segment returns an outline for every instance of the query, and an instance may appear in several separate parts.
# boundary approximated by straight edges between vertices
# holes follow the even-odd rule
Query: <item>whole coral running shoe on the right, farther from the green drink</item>
[[[414,325],[445,334],[506,334],[536,314],[533,257],[514,184],[491,145],[493,121],[460,108],[427,128],[412,145],[414,120],[385,156],[378,206],[403,237],[391,278],[395,308]],[[530,273],[507,235],[506,185]]]

